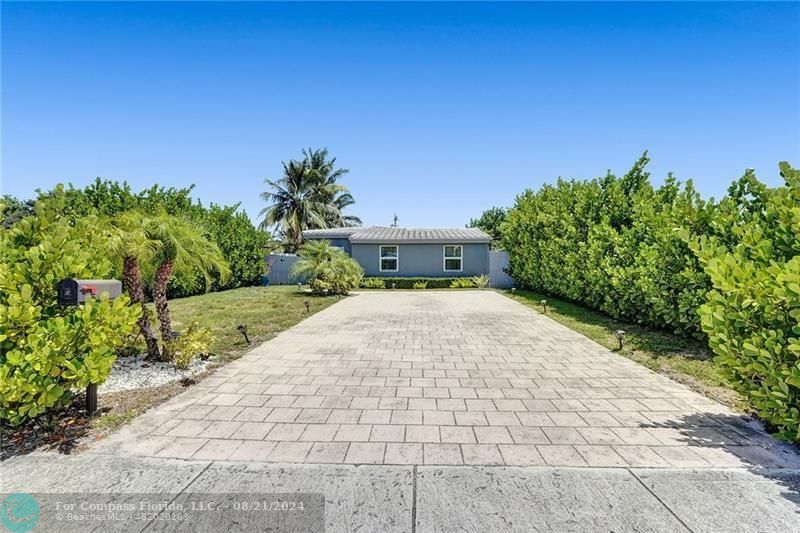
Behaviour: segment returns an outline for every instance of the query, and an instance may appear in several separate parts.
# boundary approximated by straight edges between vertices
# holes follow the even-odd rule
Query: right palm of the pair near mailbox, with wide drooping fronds
[[[170,341],[173,334],[167,307],[167,285],[172,274],[176,271],[199,272],[208,288],[212,272],[218,272],[224,281],[230,268],[219,247],[191,220],[161,213],[146,219],[145,232],[157,243],[153,254],[156,265],[153,301],[161,329],[161,359],[168,361],[172,357]]]

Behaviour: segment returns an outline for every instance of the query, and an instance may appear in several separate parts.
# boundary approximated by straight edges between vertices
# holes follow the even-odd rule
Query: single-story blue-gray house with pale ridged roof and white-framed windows
[[[303,232],[327,240],[358,261],[370,277],[442,277],[489,274],[490,237],[476,228],[331,228]]]

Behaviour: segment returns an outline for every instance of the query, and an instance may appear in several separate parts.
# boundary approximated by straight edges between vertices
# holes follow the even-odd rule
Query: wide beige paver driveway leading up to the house
[[[101,449],[279,463],[800,464],[723,406],[492,291],[343,299]]]

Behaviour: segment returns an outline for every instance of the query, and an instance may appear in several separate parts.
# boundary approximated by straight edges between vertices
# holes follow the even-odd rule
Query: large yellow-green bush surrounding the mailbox
[[[127,296],[62,307],[64,278],[110,278],[110,232],[96,217],[63,215],[63,188],[0,233],[0,419],[20,424],[102,383],[136,330]]]

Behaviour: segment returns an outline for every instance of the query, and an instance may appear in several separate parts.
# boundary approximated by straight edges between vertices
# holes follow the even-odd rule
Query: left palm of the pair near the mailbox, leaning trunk
[[[144,301],[142,264],[153,258],[158,243],[145,232],[146,216],[139,211],[127,211],[115,216],[111,221],[113,238],[110,240],[111,253],[122,260],[122,283],[131,300],[141,308],[139,331],[147,346],[147,356],[159,359],[158,340],[150,326],[150,310]]]

